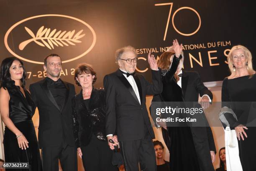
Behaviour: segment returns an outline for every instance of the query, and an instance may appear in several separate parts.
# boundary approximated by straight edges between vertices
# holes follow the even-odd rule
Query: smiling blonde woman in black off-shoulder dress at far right
[[[223,80],[221,100],[223,107],[233,110],[237,120],[230,120],[230,129],[236,130],[239,157],[244,171],[256,171],[256,125],[246,127],[255,120],[249,111],[256,102],[256,76],[252,67],[251,52],[244,46],[233,46],[228,54],[230,76]],[[231,118],[231,117],[230,117]]]

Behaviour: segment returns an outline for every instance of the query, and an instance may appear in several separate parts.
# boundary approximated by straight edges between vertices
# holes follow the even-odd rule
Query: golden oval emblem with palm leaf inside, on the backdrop
[[[54,29],[55,20],[59,20],[61,22],[65,22],[65,24],[69,23],[70,26],[72,26],[74,23],[79,24],[81,28],[79,30],[67,30],[67,31],[59,31]],[[13,44],[13,39],[10,38],[10,35],[12,34],[13,29],[17,28],[19,31],[20,29],[24,31],[24,24],[26,26],[26,23],[32,23],[35,25],[38,23],[36,20],[41,20],[40,23],[47,23],[50,24],[48,28],[46,28],[46,24],[42,24],[41,26],[38,26],[38,30],[31,31],[30,28],[25,27],[25,34],[28,34],[29,38],[23,40],[21,43],[19,42],[17,45],[20,51],[15,51],[12,48],[16,48],[16,44]],[[35,22],[35,23],[34,23]],[[22,25],[20,25],[22,24]],[[82,24],[82,25],[81,25]],[[51,27],[51,29],[50,29]],[[61,28],[63,29],[63,28]],[[60,30],[61,30],[60,29]],[[82,30],[83,29],[83,30]],[[34,33],[33,33],[34,32]],[[85,37],[86,36],[86,37]],[[85,37],[85,38],[84,38]],[[30,56],[29,54],[26,54],[30,51],[30,48],[28,45],[35,45],[37,46],[38,50],[41,48],[44,49],[56,49],[61,48],[63,51],[67,51],[66,48],[77,48],[78,51],[74,50],[74,53],[72,56],[69,56],[66,60],[62,61],[62,63],[71,62],[74,60],[77,60],[79,58],[84,57],[86,54],[88,54],[92,48],[95,46],[96,43],[96,33],[93,30],[92,26],[90,26],[85,21],[75,18],[69,15],[60,15],[60,14],[44,14],[44,15],[35,15],[31,16],[29,18],[24,18],[23,20],[18,21],[17,23],[13,24],[8,31],[5,33],[5,47],[6,49],[12,54],[13,56],[16,56],[17,58],[31,62],[33,64],[44,64],[42,61],[42,58],[38,57],[38,61],[34,60],[34,56]],[[10,42],[8,42],[10,41]],[[83,48],[79,48],[82,43],[86,42],[86,44],[83,45]],[[11,43],[11,47],[10,44]],[[31,44],[29,44],[31,43]],[[59,46],[59,47],[57,47]],[[46,47],[46,48],[45,48]],[[33,47],[34,48],[34,47]],[[22,52],[22,53],[21,53]],[[80,54],[81,53],[81,54]]]

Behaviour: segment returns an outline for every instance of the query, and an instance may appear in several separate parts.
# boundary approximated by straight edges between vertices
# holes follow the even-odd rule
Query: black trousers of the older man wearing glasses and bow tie
[[[138,163],[141,171],[156,171],[154,144],[145,125],[143,139],[121,141],[120,148],[125,161],[125,171],[138,171]]]

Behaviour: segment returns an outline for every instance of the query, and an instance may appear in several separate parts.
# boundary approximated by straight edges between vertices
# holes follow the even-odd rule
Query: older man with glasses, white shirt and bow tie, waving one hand
[[[152,82],[135,74],[138,58],[133,47],[127,46],[116,51],[119,69],[104,78],[106,95],[106,135],[108,140],[120,142],[125,171],[138,171],[138,163],[143,171],[156,171],[154,144],[155,138],[148,112],[146,95],[162,91],[161,72],[156,59],[148,54],[152,70]],[[113,149],[113,144],[109,143]]]

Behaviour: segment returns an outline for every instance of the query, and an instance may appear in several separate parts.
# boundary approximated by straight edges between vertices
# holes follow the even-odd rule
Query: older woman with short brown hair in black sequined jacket
[[[111,164],[112,151],[105,135],[104,90],[92,85],[96,72],[88,64],[75,69],[74,79],[82,87],[72,100],[74,138],[86,171],[117,171]]]

